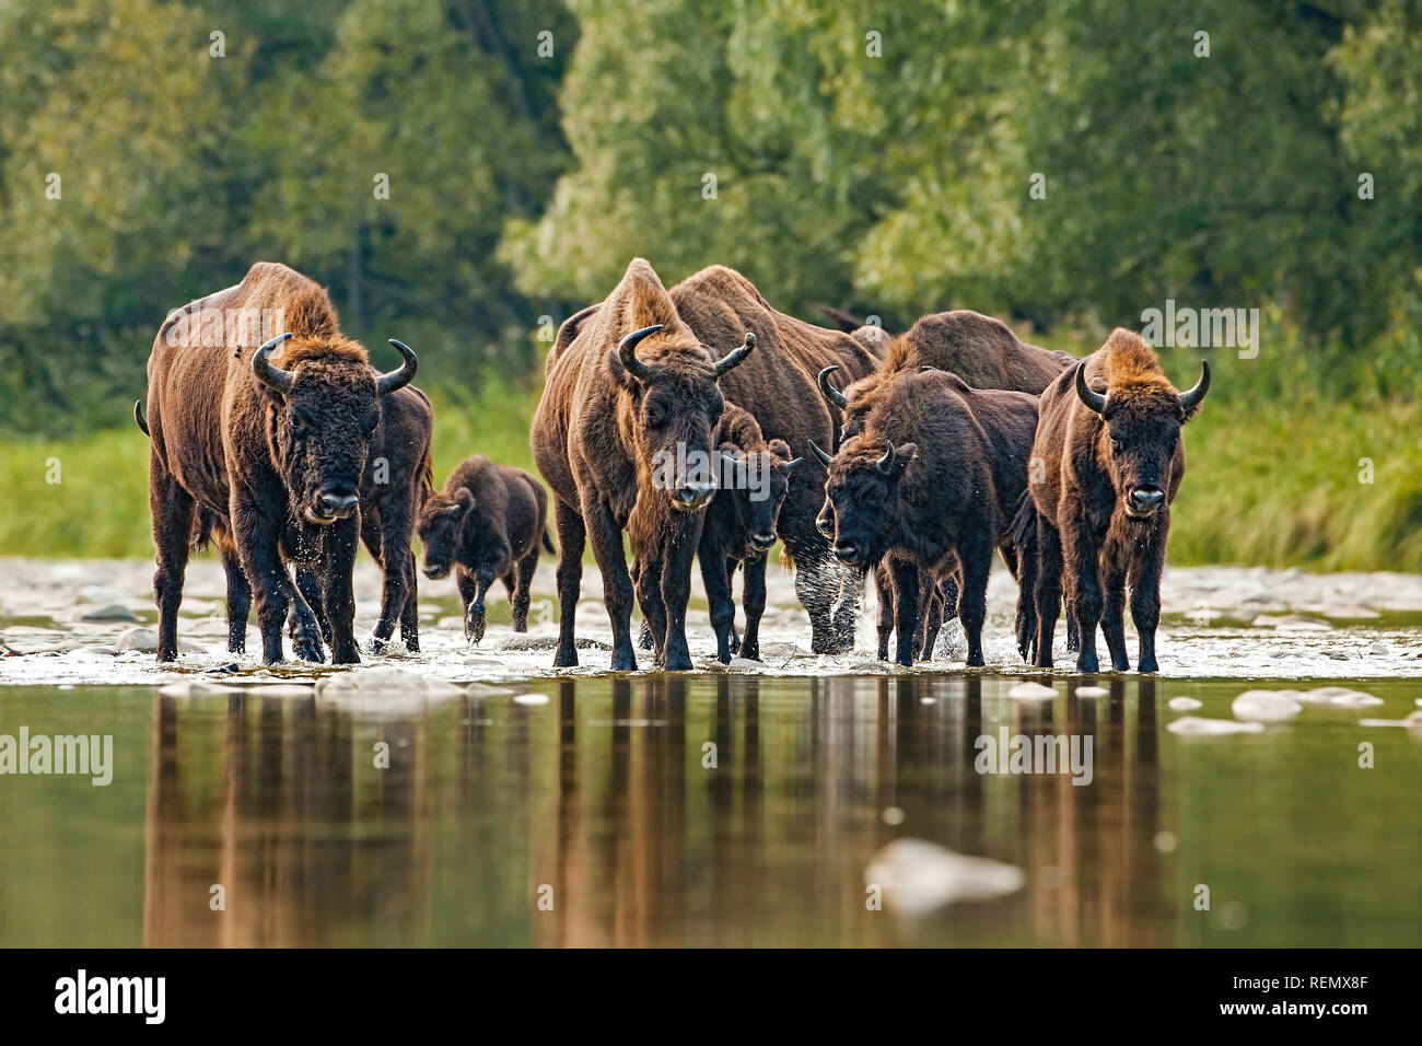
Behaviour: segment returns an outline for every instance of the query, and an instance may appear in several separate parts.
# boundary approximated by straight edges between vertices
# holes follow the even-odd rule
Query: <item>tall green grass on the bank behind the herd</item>
[[[1095,347],[1071,336],[1057,343]],[[1266,332],[1257,360],[1173,349],[1162,361],[1187,384],[1202,356],[1214,386],[1186,430],[1172,564],[1422,571],[1422,403],[1412,377],[1422,366],[1378,347],[1305,354],[1280,330]],[[476,393],[431,398],[437,484],[476,453],[533,471],[533,381],[483,379]],[[146,475],[148,441],[132,427],[4,438],[0,555],[152,555]]]

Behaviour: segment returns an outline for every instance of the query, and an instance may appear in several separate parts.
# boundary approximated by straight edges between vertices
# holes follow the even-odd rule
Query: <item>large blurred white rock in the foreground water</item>
[[[894,840],[869,860],[865,882],[904,915],[924,915],[957,901],[988,901],[1022,888],[1022,870],[968,857],[926,840]]]

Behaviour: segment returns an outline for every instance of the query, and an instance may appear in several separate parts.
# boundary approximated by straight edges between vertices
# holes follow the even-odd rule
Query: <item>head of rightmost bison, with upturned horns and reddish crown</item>
[[[1132,519],[1149,519],[1167,501],[1182,460],[1180,426],[1194,417],[1210,391],[1210,364],[1200,367],[1200,380],[1183,393],[1165,380],[1101,393],[1086,383],[1086,361],[1076,364],[1076,397],[1102,420],[1096,461],[1111,475],[1122,509]]]

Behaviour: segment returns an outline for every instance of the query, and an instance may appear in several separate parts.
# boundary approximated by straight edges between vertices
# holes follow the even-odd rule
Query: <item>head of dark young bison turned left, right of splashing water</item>
[[[833,458],[813,443],[811,448],[829,472],[825,502],[835,524],[835,558],[859,568],[879,562],[899,528],[903,514],[899,481],[919,447],[889,443],[873,448],[867,437],[857,435]]]

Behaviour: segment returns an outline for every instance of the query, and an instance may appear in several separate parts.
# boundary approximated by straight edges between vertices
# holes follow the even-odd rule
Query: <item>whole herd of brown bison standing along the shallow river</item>
[[[262,344],[210,320],[257,313],[282,317]],[[320,285],[255,265],[169,315],[148,360],[146,417],[135,404],[151,447],[158,659],[176,656],[188,558],[209,544],[226,571],[232,652],[245,650],[255,602],[266,663],[283,657],[283,628],[301,659],[324,660],[328,648],[333,663],[358,662],[361,542],[384,572],[374,650],[397,623],[418,650],[418,534],[425,576],[455,576],[474,642],[495,581],[526,629],[539,551],[556,552],[557,667],[577,665],[589,541],[611,669],[637,667],[636,602],[656,665],[688,670],[693,558],[720,660],[758,659],[766,554],[779,539],[816,653],[852,649],[872,576],[882,659],[931,657],[957,616],[967,663],[983,665],[995,549],[1018,581],[1025,660],[1051,666],[1065,606],[1076,667],[1099,669],[1099,625],[1112,669],[1129,670],[1129,591],[1136,663],[1155,672],[1180,427],[1209,390],[1209,364],[1177,391],[1123,329],[1076,359],[970,310],[899,336],[826,313],[836,329],[779,313],[724,266],[668,290],[634,259],[602,303],[559,327],[545,363],[529,440],[553,492],[555,549],[547,494],[529,474],[475,455],[435,488],[434,413],[411,384],[414,352],[391,340],[402,363],[375,370]]]

